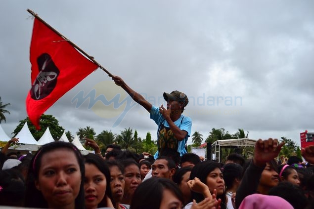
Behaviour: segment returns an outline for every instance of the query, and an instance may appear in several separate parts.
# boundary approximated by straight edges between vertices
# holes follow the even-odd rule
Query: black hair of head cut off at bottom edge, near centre
[[[152,177],[138,185],[130,209],[159,209],[165,189],[172,191],[183,204],[182,192],[172,180]]]

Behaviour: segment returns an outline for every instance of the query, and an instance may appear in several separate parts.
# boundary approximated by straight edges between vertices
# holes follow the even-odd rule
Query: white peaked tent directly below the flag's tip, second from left
[[[34,136],[32,135],[30,129],[28,128],[27,123],[25,122],[23,128],[18,132],[15,138],[19,138],[19,145],[13,145],[9,150],[28,150],[28,151],[37,151],[41,146],[38,144]]]

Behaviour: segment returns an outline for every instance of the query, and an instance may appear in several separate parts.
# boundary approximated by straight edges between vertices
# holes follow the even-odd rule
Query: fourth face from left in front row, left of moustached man
[[[135,189],[138,187],[138,184],[142,182],[140,179],[139,168],[132,164],[124,169],[124,180],[125,180],[125,188],[124,194],[128,196],[133,196]]]

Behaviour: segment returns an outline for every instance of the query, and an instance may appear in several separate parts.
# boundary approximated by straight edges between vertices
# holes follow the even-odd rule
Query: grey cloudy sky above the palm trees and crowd
[[[186,93],[184,114],[204,139],[224,127],[300,144],[300,132],[314,131],[312,0],[3,0],[0,96],[11,114],[1,126],[9,136],[27,117],[33,29],[27,8],[154,105],[166,104],[163,92]],[[108,101],[118,95],[120,103],[78,96],[89,92]],[[97,134],[131,127],[156,139],[148,112],[123,99],[125,92],[98,69],[45,114],[73,134],[86,126]]]

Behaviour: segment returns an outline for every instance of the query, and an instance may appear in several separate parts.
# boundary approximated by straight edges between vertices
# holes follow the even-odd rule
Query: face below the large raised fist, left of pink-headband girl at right
[[[269,163],[266,164],[264,168],[261,178],[260,178],[260,186],[271,188],[277,186],[279,183],[279,175],[278,173],[270,167]]]

